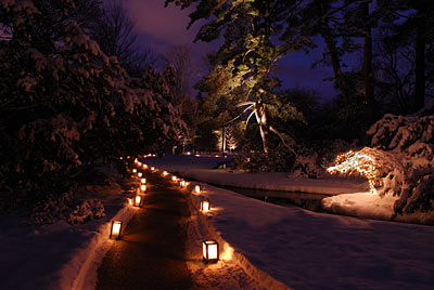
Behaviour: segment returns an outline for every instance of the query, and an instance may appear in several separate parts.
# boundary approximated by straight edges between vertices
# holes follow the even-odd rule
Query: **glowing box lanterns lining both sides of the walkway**
[[[137,158],[135,159],[136,166],[139,170],[144,169],[146,170],[149,167],[140,162]],[[132,177],[140,179],[140,190],[136,194],[135,198],[129,198],[128,202],[132,207],[143,207],[143,195],[146,193],[146,179],[143,177],[143,173],[140,172],[137,168],[132,169]],[[151,172],[157,171],[154,167],[150,168]],[[170,175],[167,171],[163,171],[163,176]],[[176,175],[171,175],[171,181],[177,183],[179,181],[180,188],[186,188],[189,184],[182,179],[178,179]],[[201,194],[201,186],[199,184],[194,185],[194,193]],[[201,211],[207,212],[210,210],[210,202],[209,200],[202,200],[200,203]],[[111,239],[120,239],[122,233],[122,221],[112,221],[112,226],[110,230],[110,238]],[[203,260],[206,262],[216,262],[219,259],[219,251],[218,251],[218,242],[216,240],[204,240],[202,241],[202,250],[203,250]]]

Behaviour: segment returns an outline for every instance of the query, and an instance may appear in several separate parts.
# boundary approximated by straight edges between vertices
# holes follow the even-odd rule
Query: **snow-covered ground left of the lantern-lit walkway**
[[[82,225],[35,228],[23,217],[0,215],[0,289],[93,289],[99,263],[114,242],[107,239],[110,221],[127,223],[136,212],[117,183],[97,187],[89,189],[103,200],[106,215]]]

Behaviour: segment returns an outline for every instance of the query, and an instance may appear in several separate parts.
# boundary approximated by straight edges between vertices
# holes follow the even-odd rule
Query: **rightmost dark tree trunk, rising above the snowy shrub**
[[[425,104],[425,44],[424,25],[419,25],[416,35],[416,88],[413,111],[423,108]]]

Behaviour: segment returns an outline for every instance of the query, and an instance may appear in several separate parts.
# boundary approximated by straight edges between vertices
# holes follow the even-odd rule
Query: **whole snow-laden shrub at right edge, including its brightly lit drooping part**
[[[395,214],[434,211],[434,116],[385,115],[367,132],[372,147],[340,155],[331,172],[359,172],[393,194]]]

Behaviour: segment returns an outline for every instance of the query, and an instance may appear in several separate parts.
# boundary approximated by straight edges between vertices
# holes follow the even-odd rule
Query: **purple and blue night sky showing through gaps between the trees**
[[[201,24],[195,23],[189,30],[189,10],[181,11],[170,4],[164,6],[164,0],[123,0],[124,8],[136,21],[139,34],[139,44],[150,48],[155,54],[166,51],[174,44],[189,44],[193,51],[194,61],[201,64],[202,56],[208,51],[218,49],[219,43],[193,43],[194,36]],[[322,79],[333,76],[330,67],[310,69],[315,60],[321,57],[322,48],[310,54],[296,52],[286,55],[278,62],[278,77],[283,81],[283,88],[310,88],[318,92],[321,100],[333,97],[336,93],[333,83]]]

